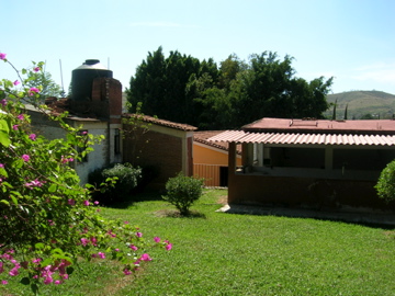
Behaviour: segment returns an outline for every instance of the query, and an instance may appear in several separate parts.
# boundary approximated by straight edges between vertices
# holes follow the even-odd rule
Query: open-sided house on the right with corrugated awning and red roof
[[[374,189],[395,159],[395,121],[262,118],[207,140],[229,144],[229,204],[395,213]]]

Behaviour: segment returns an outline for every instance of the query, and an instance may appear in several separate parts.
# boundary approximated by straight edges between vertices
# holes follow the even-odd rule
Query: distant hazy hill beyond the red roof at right
[[[336,118],[342,119],[346,105],[348,104],[347,118],[360,119],[370,114],[373,118],[392,118],[395,114],[395,95],[382,91],[348,91],[335,94],[328,94],[327,101],[335,103],[337,100]],[[334,106],[324,115],[331,118]]]

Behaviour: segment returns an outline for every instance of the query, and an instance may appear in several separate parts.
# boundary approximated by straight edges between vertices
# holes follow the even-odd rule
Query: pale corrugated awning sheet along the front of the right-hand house
[[[300,133],[246,133],[226,130],[207,141],[262,143],[281,145],[368,145],[395,146],[393,135],[352,135],[352,134],[300,134]]]

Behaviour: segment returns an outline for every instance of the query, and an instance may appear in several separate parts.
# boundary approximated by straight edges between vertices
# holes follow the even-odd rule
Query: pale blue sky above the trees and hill
[[[395,94],[393,0],[19,0],[1,3],[0,53],[15,67],[46,61],[68,89],[86,59],[110,66],[128,88],[148,52],[162,46],[216,62],[236,54],[294,57],[296,76],[335,77],[332,92]],[[109,62],[110,61],[110,62]],[[14,79],[5,64],[0,78]]]

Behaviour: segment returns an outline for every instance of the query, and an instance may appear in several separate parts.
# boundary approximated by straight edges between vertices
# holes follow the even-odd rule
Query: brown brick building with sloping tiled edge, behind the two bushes
[[[188,124],[123,114],[123,161],[154,170],[150,186],[163,189],[179,172],[192,175],[194,130]]]

